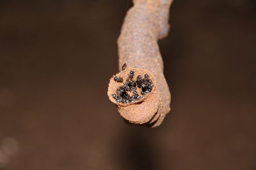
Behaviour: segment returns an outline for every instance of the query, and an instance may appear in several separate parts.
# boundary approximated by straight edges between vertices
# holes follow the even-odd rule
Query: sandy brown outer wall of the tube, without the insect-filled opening
[[[109,96],[117,104],[120,115],[134,124],[154,122],[153,126],[156,127],[170,111],[170,90],[164,78],[157,40],[168,34],[171,3],[172,0],[134,0],[118,38],[119,70],[122,70],[124,63],[127,67],[143,69],[152,74],[156,85],[155,92],[148,94],[141,103],[117,104]],[[110,81],[109,90],[118,86],[115,84],[118,83]]]

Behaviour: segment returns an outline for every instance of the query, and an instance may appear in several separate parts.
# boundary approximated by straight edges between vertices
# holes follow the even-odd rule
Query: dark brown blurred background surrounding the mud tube
[[[172,111],[107,97],[130,0],[0,1],[0,169],[256,169],[256,1],[175,0],[159,41]]]

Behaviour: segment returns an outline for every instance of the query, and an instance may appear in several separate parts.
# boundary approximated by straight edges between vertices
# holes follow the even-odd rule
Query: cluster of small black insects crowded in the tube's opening
[[[140,100],[144,95],[150,93],[154,87],[152,80],[150,80],[148,74],[144,75],[144,78],[141,75],[137,76],[137,80],[132,80],[134,76],[134,71],[130,71],[129,79],[124,83],[122,87],[119,87],[116,90],[116,94],[113,94],[113,98],[117,103],[132,103],[134,101]],[[123,82],[123,78],[114,78],[117,82]],[[137,88],[141,88],[141,96],[136,91]],[[132,93],[132,96],[128,94]]]

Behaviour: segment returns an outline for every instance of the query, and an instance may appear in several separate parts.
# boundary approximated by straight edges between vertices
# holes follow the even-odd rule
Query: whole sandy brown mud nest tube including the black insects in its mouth
[[[108,97],[120,115],[136,125],[159,126],[171,95],[157,40],[168,34],[172,0],[134,0],[118,38],[120,73],[109,81]]]

